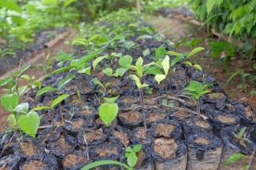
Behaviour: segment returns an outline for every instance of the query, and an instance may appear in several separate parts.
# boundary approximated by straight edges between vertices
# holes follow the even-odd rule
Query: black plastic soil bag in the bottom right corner
[[[243,127],[232,125],[221,130],[221,139],[224,143],[224,146],[221,154],[221,162],[219,165],[219,169],[242,170],[244,165],[250,165],[254,157],[255,144],[249,143],[243,139],[240,139],[240,141],[238,141],[238,139],[236,139],[236,137],[233,135],[233,133],[238,135],[242,128]],[[252,141],[250,133],[248,131],[249,130],[246,129],[243,138],[247,138],[250,139],[250,141]],[[243,143],[243,146],[240,143]],[[236,161],[229,163],[226,167],[223,166],[224,162],[228,161],[229,157],[232,156],[232,154],[238,153],[243,154],[246,157],[246,160],[244,160],[244,157],[242,157]]]

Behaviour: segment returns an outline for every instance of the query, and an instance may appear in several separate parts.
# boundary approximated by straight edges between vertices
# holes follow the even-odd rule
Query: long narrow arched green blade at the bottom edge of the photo
[[[95,168],[101,165],[121,165],[124,168],[127,168],[128,170],[133,170],[128,165],[125,165],[119,161],[113,161],[113,160],[95,161],[95,162],[92,162],[91,164],[85,165],[83,168],[81,168],[81,170],[89,170],[91,168]]]

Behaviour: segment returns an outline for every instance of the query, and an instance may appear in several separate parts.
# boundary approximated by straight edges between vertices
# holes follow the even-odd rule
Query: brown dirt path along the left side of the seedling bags
[[[45,56],[50,53],[50,57],[53,57],[53,56],[57,56],[58,52],[60,50],[63,50],[65,52],[72,52],[72,46],[65,44],[64,42],[71,41],[74,34],[75,33],[72,32],[71,34],[69,34],[68,37],[59,41],[57,44],[52,46],[50,49],[43,49],[38,53],[40,53],[40,54],[45,53]],[[29,67],[27,71],[24,71],[24,74],[28,74],[30,77],[35,76],[35,80],[37,80],[38,78],[41,78],[44,75],[46,75],[45,71],[43,71],[44,66],[46,66],[46,60],[41,58],[40,60],[37,60],[36,63],[32,63],[31,67]],[[23,78],[19,78],[18,85],[19,85],[19,87],[22,85],[28,85],[28,81],[24,81]],[[3,96],[4,94],[6,94],[6,93],[3,92],[2,90],[0,90],[0,96]],[[22,100],[20,100],[20,101],[22,101]],[[6,120],[8,119],[9,114],[10,114],[9,111],[2,108],[2,105],[0,104],[0,115],[1,115],[0,132],[2,132],[3,129],[6,127],[6,125],[8,125],[8,122]]]

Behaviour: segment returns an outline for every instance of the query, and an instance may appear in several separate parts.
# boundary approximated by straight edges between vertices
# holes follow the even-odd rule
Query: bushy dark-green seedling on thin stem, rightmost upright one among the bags
[[[197,103],[198,116],[196,121],[200,120],[200,97],[206,93],[211,92],[206,89],[214,84],[215,83],[210,83],[209,85],[202,86],[198,81],[191,81],[188,87],[183,90],[184,94],[190,95],[192,99],[194,99]]]

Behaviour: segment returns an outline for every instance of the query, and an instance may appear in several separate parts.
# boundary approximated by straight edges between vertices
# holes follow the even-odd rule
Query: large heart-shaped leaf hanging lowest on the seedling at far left
[[[23,132],[35,138],[37,128],[39,128],[40,125],[39,114],[35,111],[30,111],[28,114],[22,114],[19,116],[17,124]]]

